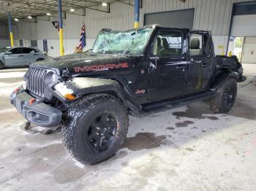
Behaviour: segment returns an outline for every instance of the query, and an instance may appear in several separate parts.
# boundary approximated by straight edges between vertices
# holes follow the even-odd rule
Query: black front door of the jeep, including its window
[[[184,31],[159,31],[148,61],[148,99],[162,100],[185,94],[187,58]]]

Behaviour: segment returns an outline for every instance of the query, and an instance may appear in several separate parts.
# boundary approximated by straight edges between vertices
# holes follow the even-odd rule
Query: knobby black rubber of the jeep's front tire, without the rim
[[[99,112],[110,112],[116,117],[117,130],[108,149],[92,149],[85,137],[90,124]],[[96,164],[113,156],[124,142],[128,129],[128,114],[118,98],[106,94],[92,94],[72,104],[67,120],[61,128],[61,137],[67,151],[80,163]]]

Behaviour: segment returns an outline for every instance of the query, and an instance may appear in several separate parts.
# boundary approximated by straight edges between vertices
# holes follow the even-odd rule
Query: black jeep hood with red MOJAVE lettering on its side
[[[127,55],[90,55],[89,52],[84,52],[49,58],[46,61],[33,63],[31,66],[53,69],[59,71],[60,74],[63,69],[68,69],[69,74],[80,74],[89,71],[128,68],[129,60]]]

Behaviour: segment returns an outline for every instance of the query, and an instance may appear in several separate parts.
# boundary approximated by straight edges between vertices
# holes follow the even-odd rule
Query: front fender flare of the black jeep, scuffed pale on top
[[[57,83],[63,83],[68,89],[72,90],[72,94],[76,96],[74,101],[79,98],[83,98],[86,95],[92,93],[107,93],[114,95],[119,98],[128,109],[130,109],[134,114],[138,115],[141,106],[137,104],[136,101],[124,90],[124,88],[113,79],[102,79],[102,78],[91,78],[91,77],[73,77],[66,82],[56,82],[49,88],[51,93],[63,104],[69,105],[74,101],[69,101],[61,95],[57,90],[55,90],[54,85]]]

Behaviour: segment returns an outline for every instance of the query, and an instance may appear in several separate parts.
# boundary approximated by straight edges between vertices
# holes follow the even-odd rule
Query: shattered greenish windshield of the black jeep
[[[151,27],[131,31],[100,31],[91,52],[98,54],[138,55],[143,53]]]

